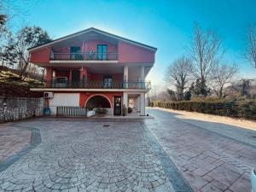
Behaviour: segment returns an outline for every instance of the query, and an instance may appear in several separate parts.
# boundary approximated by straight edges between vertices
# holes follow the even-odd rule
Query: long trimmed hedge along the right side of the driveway
[[[217,114],[233,118],[256,120],[255,101],[188,101],[188,102],[154,102],[150,104],[159,108],[171,108],[189,112]]]

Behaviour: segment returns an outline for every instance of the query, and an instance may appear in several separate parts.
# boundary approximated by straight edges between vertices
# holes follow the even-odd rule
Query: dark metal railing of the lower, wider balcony
[[[56,82],[47,81],[42,84],[43,88],[58,88],[58,89],[142,89],[149,90],[151,88],[150,81],[127,81],[127,82]]]

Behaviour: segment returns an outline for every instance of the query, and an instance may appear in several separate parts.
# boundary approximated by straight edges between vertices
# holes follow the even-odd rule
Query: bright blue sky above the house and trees
[[[256,69],[242,58],[246,28],[256,22],[255,0],[16,0],[23,11],[15,17],[16,28],[41,26],[52,38],[96,27],[158,48],[153,84],[162,84],[166,67],[186,54],[198,22],[224,38],[226,59],[240,67],[239,77],[256,78]]]

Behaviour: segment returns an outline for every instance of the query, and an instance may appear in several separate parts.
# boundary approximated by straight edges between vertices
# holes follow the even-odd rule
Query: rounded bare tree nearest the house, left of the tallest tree
[[[179,57],[167,68],[166,83],[176,87],[178,101],[183,100],[183,92],[190,80],[192,69],[192,61],[185,56]]]

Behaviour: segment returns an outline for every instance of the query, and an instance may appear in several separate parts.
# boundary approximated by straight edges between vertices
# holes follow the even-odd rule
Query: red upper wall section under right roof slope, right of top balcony
[[[119,62],[154,63],[154,50],[119,41]]]

